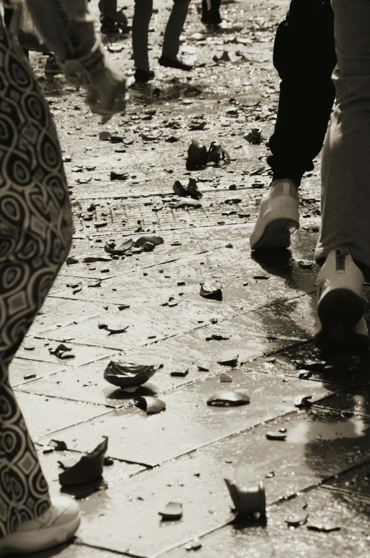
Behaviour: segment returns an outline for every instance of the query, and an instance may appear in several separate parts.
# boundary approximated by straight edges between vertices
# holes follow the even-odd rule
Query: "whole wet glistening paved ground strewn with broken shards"
[[[183,75],[156,61],[170,7],[161,1],[150,33],[156,79],[130,86],[126,114],[104,127],[82,91],[60,76],[45,80],[45,59],[31,56],[66,159],[75,263],[63,265],[11,381],[54,495],[60,460],[106,436],[111,458],[102,478],[62,489],[80,502],[82,525],[74,544],[39,558],[368,555],[369,362],[326,359],[312,345],[318,164],[303,181],[291,250],[249,250],[271,177],[266,142],[244,135],[259,127],[266,139],[273,130],[273,37],[287,6],[224,1],[227,23],[214,32],[192,3],[181,54],[197,68]],[[131,20],[131,6],[126,13]],[[131,36],[104,42],[132,75]],[[224,51],[229,60],[215,61]],[[204,129],[192,130],[200,117]],[[102,130],[121,139],[104,141]],[[192,139],[222,143],[232,162],[187,171]],[[202,206],[177,209],[173,183],[190,177]],[[143,234],[163,243],[123,255],[104,249]],[[222,288],[222,300],[201,297],[200,283]],[[71,358],[55,354],[60,343]],[[221,364],[233,355],[234,365]],[[129,392],[104,379],[111,360],[163,367]],[[241,389],[249,404],[207,405],[224,389]],[[166,409],[146,414],[135,402],[141,396],[160,397]],[[284,439],[271,439],[279,432]],[[52,451],[52,440],[67,450]],[[224,478],[250,488],[262,480],[266,520],[234,515]],[[168,502],[183,505],[179,520],[161,520]]]

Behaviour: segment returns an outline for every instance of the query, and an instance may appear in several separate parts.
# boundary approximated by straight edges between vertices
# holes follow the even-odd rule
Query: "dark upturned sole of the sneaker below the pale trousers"
[[[369,337],[355,331],[364,315],[364,302],[349,289],[334,289],[317,305],[320,330],[314,335],[318,349],[335,352],[362,352],[369,346]]]

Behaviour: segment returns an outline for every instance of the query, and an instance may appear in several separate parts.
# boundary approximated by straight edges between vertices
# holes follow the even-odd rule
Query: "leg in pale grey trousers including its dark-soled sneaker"
[[[370,2],[332,0],[337,100],[322,153],[315,341],[369,342],[362,288],[370,265]]]

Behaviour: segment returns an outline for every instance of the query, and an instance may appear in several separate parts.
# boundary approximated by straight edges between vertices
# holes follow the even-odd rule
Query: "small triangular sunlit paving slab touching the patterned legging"
[[[90,405],[65,401],[55,397],[27,394],[15,390],[19,406],[26,420],[31,436],[38,440],[41,436],[67,428],[89,418],[107,413],[103,405]],[[97,444],[95,444],[97,445]]]

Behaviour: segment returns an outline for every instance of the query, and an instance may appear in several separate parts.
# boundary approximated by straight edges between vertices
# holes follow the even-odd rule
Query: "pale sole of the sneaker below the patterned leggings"
[[[67,525],[62,527],[49,527],[47,529],[40,529],[37,532],[22,532],[13,533],[6,537],[7,542],[1,544],[0,539],[0,556],[6,556],[6,554],[28,554],[30,552],[40,552],[40,550],[45,550],[53,547],[57,547],[58,544],[67,542],[72,539],[80,526],[81,517],[78,515]],[[19,540],[21,538],[21,541]],[[17,541],[18,539],[18,541]]]

